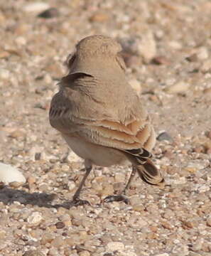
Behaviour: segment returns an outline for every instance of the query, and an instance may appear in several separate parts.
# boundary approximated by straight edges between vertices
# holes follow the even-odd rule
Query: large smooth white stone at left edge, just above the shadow
[[[14,181],[25,183],[26,178],[15,167],[0,163],[0,181],[6,184]]]

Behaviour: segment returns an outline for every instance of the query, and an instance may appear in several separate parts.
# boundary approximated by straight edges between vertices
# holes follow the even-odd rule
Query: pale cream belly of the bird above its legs
[[[97,166],[112,166],[129,162],[124,153],[116,149],[85,142],[78,137],[67,136],[67,134],[62,134],[62,136],[75,154],[82,159],[89,159]]]

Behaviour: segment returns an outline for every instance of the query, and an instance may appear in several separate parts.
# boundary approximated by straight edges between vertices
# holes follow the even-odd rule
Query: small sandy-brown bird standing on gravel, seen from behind
[[[163,187],[163,173],[152,160],[156,134],[151,117],[126,80],[121,45],[109,36],[87,36],[67,57],[67,75],[50,103],[49,120],[72,151],[85,160],[85,175],[72,203],[82,205],[80,191],[92,166],[130,162],[131,176],[124,191],[105,198],[125,201],[136,173],[151,185]]]

